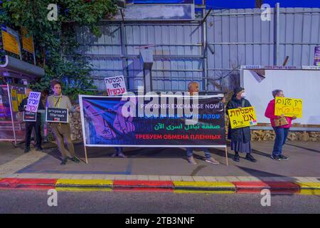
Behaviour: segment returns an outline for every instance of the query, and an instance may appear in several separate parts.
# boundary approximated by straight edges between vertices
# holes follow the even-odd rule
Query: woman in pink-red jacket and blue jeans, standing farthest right
[[[291,127],[292,120],[297,119],[297,117],[285,117],[282,115],[274,115],[274,108],[275,108],[275,98],[276,97],[284,97],[282,90],[273,90],[272,95],[274,97],[273,100],[270,100],[269,104],[267,105],[267,109],[265,110],[265,117],[270,118],[270,123],[276,134],[276,138],[274,140],[274,146],[271,158],[273,160],[288,160],[289,157],[282,155],[282,147],[287,140],[287,136],[289,133],[289,128]]]

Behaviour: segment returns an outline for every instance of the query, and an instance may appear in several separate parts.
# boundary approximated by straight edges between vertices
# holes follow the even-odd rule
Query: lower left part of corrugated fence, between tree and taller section
[[[85,28],[79,30],[80,43],[85,45],[85,55],[90,56],[94,71],[92,76],[99,90],[104,90],[102,78],[122,75],[127,71],[129,90],[143,86],[143,68],[139,47],[154,50],[152,76],[154,90],[185,91],[190,81],[203,81],[202,30],[198,24],[125,24],[127,69],[122,68],[121,33],[119,26],[107,23],[101,26],[103,34],[92,39]],[[89,39],[82,38],[83,36]],[[117,55],[104,57],[103,55]],[[186,58],[186,56],[190,58]]]

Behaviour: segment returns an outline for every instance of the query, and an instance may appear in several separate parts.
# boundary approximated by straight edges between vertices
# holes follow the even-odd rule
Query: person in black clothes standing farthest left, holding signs
[[[28,95],[32,90],[30,88],[26,89],[26,98],[23,98],[21,103],[19,104],[18,110],[20,112],[26,111],[26,105],[28,104]],[[38,106],[38,110],[44,110],[43,103],[40,102]],[[25,147],[24,147],[24,152],[29,152],[30,151],[30,142],[31,142],[31,133],[32,129],[34,128],[36,132],[36,150],[43,150],[41,147],[41,113],[37,113],[37,118],[36,121],[26,121],[26,141],[25,141]]]

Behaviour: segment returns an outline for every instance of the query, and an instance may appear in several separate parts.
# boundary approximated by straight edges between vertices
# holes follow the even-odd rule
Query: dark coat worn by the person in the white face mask
[[[228,115],[228,110],[233,108],[241,107],[250,107],[251,104],[249,100],[246,100],[245,98],[241,98],[241,100],[238,100],[235,98],[235,95],[233,95],[233,98],[229,100],[227,107],[225,108],[225,113]],[[244,142],[249,142],[251,140],[251,134],[250,134],[250,127],[246,128],[237,128],[237,129],[231,129],[230,122],[229,122],[229,128],[228,128],[228,139],[231,139],[233,141],[241,141],[241,130],[243,130],[244,135]]]

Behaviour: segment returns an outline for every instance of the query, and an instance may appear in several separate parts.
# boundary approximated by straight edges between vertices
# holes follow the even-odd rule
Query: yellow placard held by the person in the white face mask
[[[245,128],[257,125],[254,107],[234,108],[228,110],[231,128]]]

